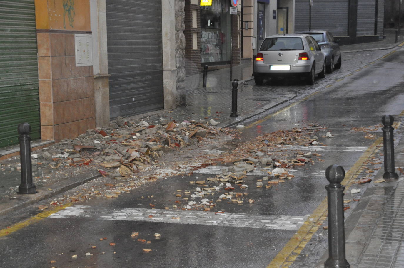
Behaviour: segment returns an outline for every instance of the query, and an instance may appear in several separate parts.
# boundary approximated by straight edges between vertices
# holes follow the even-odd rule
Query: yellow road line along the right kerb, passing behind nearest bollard
[[[355,164],[345,173],[345,179],[342,184],[346,189],[354,182],[362,170],[364,162],[375,153],[376,149],[383,141],[383,138],[378,138],[372,145],[362,154],[362,156],[356,161]],[[324,184],[325,185],[325,184]],[[313,234],[315,234],[326,218],[327,212],[327,198],[324,198],[320,205],[309,216],[308,220],[299,228],[299,230],[293,235],[293,237],[286,243],[281,251],[275,256],[267,268],[288,268],[299,256],[301,251],[310,241]]]

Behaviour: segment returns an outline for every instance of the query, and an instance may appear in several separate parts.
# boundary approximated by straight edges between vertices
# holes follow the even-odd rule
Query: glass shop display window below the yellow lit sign
[[[230,61],[230,3],[213,0],[201,6],[201,62]]]

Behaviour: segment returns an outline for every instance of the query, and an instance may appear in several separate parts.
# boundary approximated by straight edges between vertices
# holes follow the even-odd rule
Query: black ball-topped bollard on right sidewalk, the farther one
[[[398,179],[398,174],[394,172],[394,138],[392,127],[394,118],[391,115],[383,115],[381,118],[383,124],[383,149],[384,149],[384,174],[385,179]]]

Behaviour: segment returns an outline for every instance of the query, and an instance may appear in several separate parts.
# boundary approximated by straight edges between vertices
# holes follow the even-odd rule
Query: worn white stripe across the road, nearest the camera
[[[72,205],[51,214],[49,218],[92,217],[103,220],[128,220],[145,222],[172,222],[179,224],[203,224],[241,228],[298,230],[307,216],[263,216],[244,213],[216,214],[212,211],[173,211],[165,209],[130,208],[116,211],[96,211],[90,206]]]

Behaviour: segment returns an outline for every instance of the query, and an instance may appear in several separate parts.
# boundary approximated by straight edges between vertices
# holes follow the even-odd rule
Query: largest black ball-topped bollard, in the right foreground
[[[339,165],[326,169],[328,201],[328,259],[324,268],[349,268],[345,259],[344,190],[345,170]]]

